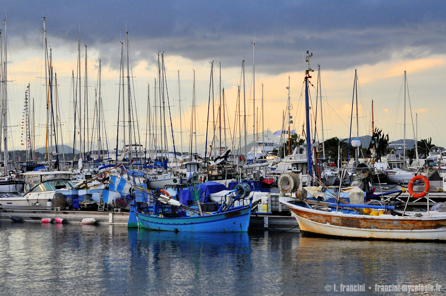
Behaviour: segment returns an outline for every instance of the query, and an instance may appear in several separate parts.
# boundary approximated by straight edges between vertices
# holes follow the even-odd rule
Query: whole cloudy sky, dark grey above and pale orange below
[[[178,70],[180,73],[184,150],[190,131],[194,70],[197,134],[201,139],[198,141],[204,141],[212,61],[215,102],[219,100],[221,62],[228,139],[234,134],[239,85],[243,92],[243,60],[248,138],[252,140],[253,90],[256,108],[260,110],[262,83],[264,129],[272,132],[281,129],[282,112],[288,98],[285,87],[289,83],[294,119],[291,128],[300,134],[304,122],[301,90],[306,69],[303,53],[309,50],[313,53],[310,67],[316,70],[310,79],[314,85],[310,87],[313,112],[316,111],[318,65],[321,67],[325,138],[349,136],[355,69],[359,81],[359,132],[354,118],[352,135],[371,134],[373,100],[375,127],[388,133],[390,140],[403,138],[403,74],[406,70],[409,86],[406,137],[413,139],[415,133],[418,139],[432,137],[435,144],[445,146],[446,135],[442,128],[446,124],[442,116],[446,94],[445,6],[442,1],[8,1],[2,4],[0,16],[7,18],[8,24],[9,142],[14,148],[21,147],[20,124],[25,87],[29,83],[37,117],[36,145],[45,143],[46,103],[44,80],[41,79],[44,76],[42,16],[45,16],[48,45],[58,77],[61,136],[70,146],[74,128],[71,73],[77,70],[79,32],[82,63],[85,45],[88,50],[90,114],[98,88],[100,59],[107,139],[108,144],[115,146],[120,42],[126,31],[130,41],[135,110],[143,143],[147,86],[150,84],[153,99],[153,79],[160,50],[165,57],[177,147],[180,143]],[[253,80],[254,41],[256,71]],[[355,117],[356,107],[353,114]],[[320,103],[318,115],[312,116],[313,119],[317,117],[318,140],[322,140]],[[412,125],[416,118],[417,129]],[[261,116],[257,125],[260,124]]]

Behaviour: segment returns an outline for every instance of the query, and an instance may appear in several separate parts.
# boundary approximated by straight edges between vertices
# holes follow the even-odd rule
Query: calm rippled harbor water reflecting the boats
[[[0,222],[0,295],[408,295],[376,292],[376,284],[441,284],[444,290],[423,295],[446,295],[445,251],[444,243],[298,232]],[[333,292],[334,284],[366,291]]]

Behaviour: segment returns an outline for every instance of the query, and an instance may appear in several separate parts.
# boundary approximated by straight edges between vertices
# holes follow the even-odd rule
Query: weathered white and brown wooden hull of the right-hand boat
[[[431,240],[446,239],[446,216],[368,216],[324,212],[285,201],[301,231],[350,238]],[[289,199],[289,198],[288,198]]]

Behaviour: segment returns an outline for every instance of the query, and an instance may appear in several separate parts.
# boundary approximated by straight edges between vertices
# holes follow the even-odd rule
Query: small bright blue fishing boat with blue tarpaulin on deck
[[[128,227],[177,232],[246,232],[252,207],[250,192],[249,185],[238,185],[225,195],[221,204],[202,204],[197,199],[196,205],[186,206],[158,189],[147,197],[133,199]],[[245,205],[247,201],[249,204]],[[215,211],[205,211],[212,206]]]

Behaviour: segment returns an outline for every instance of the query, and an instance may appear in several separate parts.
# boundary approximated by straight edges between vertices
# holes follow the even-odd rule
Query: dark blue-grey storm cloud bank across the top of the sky
[[[326,69],[374,64],[392,55],[444,53],[445,6],[443,1],[91,0],[8,1],[2,8],[10,35],[22,37],[25,45],[40,46],[33,42],[41,36],[43,13],[49,36],[75,43],[80,26],[83,43],[94,45],[108,62],[119,58],[126,23],[133,58],[149,62],[162,43],[167,54],[240,65],[252,58],[255,33],[259,70],[280,73],[301,70],[306,49]]]

